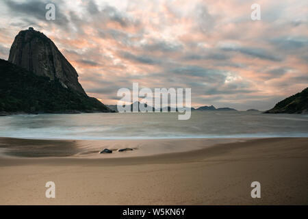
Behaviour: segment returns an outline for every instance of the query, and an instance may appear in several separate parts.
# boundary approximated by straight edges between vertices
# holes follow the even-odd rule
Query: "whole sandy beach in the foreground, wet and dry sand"
[[[0,157],[0,205],[308,204],[308,138],[137,143],[110,140],[99,145],[182,144],[194,150],[144,155],[137,146],[107,157],[97,153],[99,148],[92,150],[95,146],[93,155],[85,152],[91,141],[0,138],[2,152],[11,147]],[[36,151],[34,157],[23,146]],[[55,182],[55,198],[45,197],[47,181]],[[261,198],[251,198],[253,181],[261,183]]]

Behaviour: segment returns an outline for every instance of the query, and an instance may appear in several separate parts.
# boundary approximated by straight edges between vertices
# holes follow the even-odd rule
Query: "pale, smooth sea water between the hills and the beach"
[[[308,115],[261,112],[38,114],[0,117],[0,137],[55,140],[308,137]]]

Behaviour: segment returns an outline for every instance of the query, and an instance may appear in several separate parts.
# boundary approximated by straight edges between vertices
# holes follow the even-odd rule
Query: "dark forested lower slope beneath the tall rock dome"
[[[0,114],[111,112],[100,101],[0,59]]]

